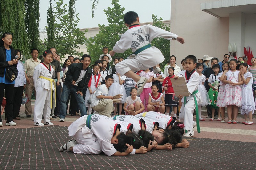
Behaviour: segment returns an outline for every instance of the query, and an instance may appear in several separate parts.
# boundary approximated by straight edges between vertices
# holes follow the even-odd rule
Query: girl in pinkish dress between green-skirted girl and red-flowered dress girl
[[[220,107],[221,113],[221,122],[225,123],[225,107],[227,107],[226,103],[224,102],[225,99],[225,84],[223,83],[225,74],[229,71],[229,64],[228,62],[222,64],[222,73],[219,73],[220,79],[220,89],[218,92],[217,103],[216,105]],[[218,113],[218,118],[220,117]]]

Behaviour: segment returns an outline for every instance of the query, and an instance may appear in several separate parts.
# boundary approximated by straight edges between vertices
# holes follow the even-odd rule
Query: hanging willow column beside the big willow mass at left
[[[25,25],[28,33],[28,48],[39,48],[39,0],[25,1]]]

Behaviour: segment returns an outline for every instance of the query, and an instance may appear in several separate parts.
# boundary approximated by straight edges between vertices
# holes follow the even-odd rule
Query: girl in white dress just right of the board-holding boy
[[[198,72],[199,74],[199,82],[198,82],[198,91],[200,92],[200,94],[202,95],[203,97],[203,103],[198,105],[198,116],[199,116],[199,120],[200,121],[205,121],[201,115],[202,115],[202,106],[207,106],[210,104],[210,99],[209,99],[209,95],[208,95],[208,92],[204,86],[204,82],[206,80],[205,76],[202,74],[202,71],[204,69],[204,66],[203,64],[201,63],[198,63],[196,65],[196,72]]]

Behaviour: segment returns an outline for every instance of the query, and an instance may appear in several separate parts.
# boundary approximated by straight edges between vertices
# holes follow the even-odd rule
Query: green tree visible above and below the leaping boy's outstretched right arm
[[[163,19],[161,17],[159,19],[157,19],[157,16],[152,14],[152,20],[153,20],[153,26],[162,28],[166,31],[170,31],[170,26],[164,24]],[[151,45],[160,49],[160,51],[164,55],[165,60],[161,63],[161,68],[163,68],[164,65],[169,62],[170,40],[166,40],[162,37],[154,38],[154,40],[151,42]]]

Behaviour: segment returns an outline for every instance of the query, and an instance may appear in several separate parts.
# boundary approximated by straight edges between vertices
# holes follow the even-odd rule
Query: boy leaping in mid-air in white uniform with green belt
[[[125,75],[137,82],[138,95],[143,90],[144,85],[147,82],[147,78],[136,75],[134,71],[146,70],[153,67],[154,72],[160,72],[160,68],[156,67],[156,63],[162,63],[164,56],[161,51],[151,46],[151,41],[156,37],[163,37],[168,40],[177,40],[180,43],[184,43],[182,37],[165,31],[161,28],[157,28],[152,25],[140,26],[140,20],[137,13],[129,11],[124,15],[125,25],[129,29],[121,36],[120,40],[116,42],[113,50],[109,52],[111,56],[117,53],[124,53],[127,49],[132,49],[132,55],[128,59],[116,64],[116,71],[121,76]]]

